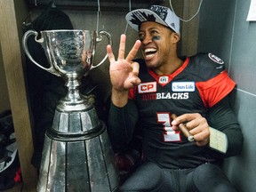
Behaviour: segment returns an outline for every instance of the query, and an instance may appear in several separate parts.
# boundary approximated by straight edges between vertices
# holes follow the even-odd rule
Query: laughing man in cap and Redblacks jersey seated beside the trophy
[[[223,60],[212,53],[180,59],[180,20],[167,7],[134,10],[126,20],[139,40],[126,58],[126,36],[121,36],[117,59],[107,47],[108,133],[119,152],[140,129],[142,156],[120,190],[236,191],[218,166],[224,157],[239,154],[243,143],[228,103],[235,83]],[[134,60],[139,49],[143,59]]]

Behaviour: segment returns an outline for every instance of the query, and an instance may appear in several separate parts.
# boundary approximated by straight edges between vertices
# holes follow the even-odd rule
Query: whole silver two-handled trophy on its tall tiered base
[[[50,67],[44,68],[28,52],[28,37],[35,36],[44,48]],[[96,44],[106,31],[45,30],[40,38],[34,30],[23,36],[23,48],[39,68],[61,76],[68,94],[55,109],[52,127],[44,138],[37,191],[116,191],[119,177],[105,124],[100,121],[90,96],[79,92],[80,79],[93,65]]]

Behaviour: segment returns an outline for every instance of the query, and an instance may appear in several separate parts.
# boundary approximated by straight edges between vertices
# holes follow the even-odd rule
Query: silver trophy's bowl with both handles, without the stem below
[[[50,68],[44,68],[32,58],[28,51],[28,37],[34,35],[35,41],[42,45],[49,61]],[[39,34],[35,30],[28,30],[23,36],[23,48],[31,60],[39,68],[62,77],[86,76],[92,68],[100,66],[108,57],[105,56],[99,64],[93,65],[96,44],[101,41],[101,36],[108,37],[111,44],[111,36],[106,31],[95,30],[44,30]]]

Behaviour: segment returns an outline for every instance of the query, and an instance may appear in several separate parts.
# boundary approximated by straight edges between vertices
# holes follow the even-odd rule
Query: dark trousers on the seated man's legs
[[[125,180],[122,192],[236,192],[215,164],[193,169],[164,169],[153,163],[141,164]]]

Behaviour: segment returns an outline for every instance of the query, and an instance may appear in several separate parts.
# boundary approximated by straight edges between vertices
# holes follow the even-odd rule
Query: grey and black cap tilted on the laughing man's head
[[[142,22],[153,21],[172,28],[173,31],[180,34],[180,20],[168,7],[152,5],[149,9],[133,10],[126,14],[125,19],[137,31]]]

